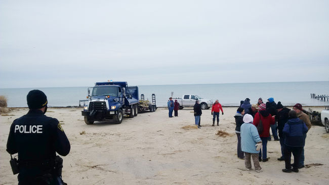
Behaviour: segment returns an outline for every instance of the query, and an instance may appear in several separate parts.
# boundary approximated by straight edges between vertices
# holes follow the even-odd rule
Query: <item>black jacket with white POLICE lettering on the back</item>
[[[7,152],[18,153],[19,163],[51,160],[56,157],[56,152],[66,156],[70,148],[58,120],[45,116],[40,110],[30,110],[14,120],[10,127]]]

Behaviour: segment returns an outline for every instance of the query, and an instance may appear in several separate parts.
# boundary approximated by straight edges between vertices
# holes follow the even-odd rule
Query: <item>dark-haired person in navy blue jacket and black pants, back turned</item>
[[[297,113],[292,110],[289,112],[289,120],[284,124],[284,161],[285,169],[283,172],[298,172],[300,156],[305,145],[304,134],[308,129],[304,121],[297,117]],[[291,156],[294,155],[294,166],[291,169]]]

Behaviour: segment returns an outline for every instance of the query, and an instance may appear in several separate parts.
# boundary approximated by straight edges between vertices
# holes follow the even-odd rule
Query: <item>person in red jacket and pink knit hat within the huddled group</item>
[[[270,125],[275,124],[275,119],[272,117],[272,115],[266,110],[266,105],[263,103],[259,106],[258,113],[255,114],[254,122],[253,124],[257,127],[258,124],[262,121],[263,124],[263,132],[259,133],[259,136],[262,140],[262,147],[263,147],[263,153],[262,150],[259,151],[259,161],[262,161],[262,154],[263,154],[263,162],[268,161],[267,158],[267,139],[270,135]]]

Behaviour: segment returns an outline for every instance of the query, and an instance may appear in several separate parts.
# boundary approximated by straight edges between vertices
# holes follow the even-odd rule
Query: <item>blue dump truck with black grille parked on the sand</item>
[[[92,88],[92,94],[90,89]],[[89,102],[81,114],[86,124],[94,121],[113,120],[120,124],[124,115],[133,118],[138,113],[138,87],[126,81],[96,82],[88,88]]]

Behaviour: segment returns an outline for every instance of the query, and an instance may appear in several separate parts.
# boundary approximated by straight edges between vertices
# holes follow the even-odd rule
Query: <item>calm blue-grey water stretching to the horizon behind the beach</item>
[[[78,106],[79,100],[85,100],[88,87],[48,87],[48,88],[0,88],[0,95],[8,99],[8,107],[27,107],[26,95],[32,89],[40,89],[48,97],[48,106]],[[240,100],[250,98],[256,103],[273,97],[283,105],[301,103],[308,106],[329,105],[328,102],[311,99],[311,93],[329,95],[329,81],[317,82],[271,82],[271,83],[226,83],[226,84],[186,84],[186,85],[140,85],[139,94],[151,100],[156,95],[157,106],[166,106],[171,92],[173,98],[182,98],[183,94],[195,94],[202,98],[218,99],[224,106],[238,106]]]

